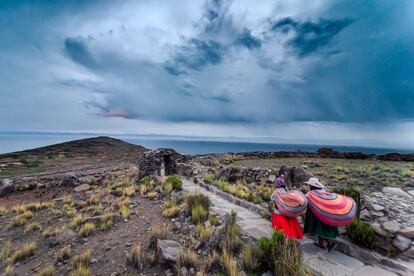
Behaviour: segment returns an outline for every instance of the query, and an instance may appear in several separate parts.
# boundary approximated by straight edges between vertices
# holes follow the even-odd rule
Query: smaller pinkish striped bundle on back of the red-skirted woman
[[[276,189],[274,201],[281,215],[287,217],[298,217],[306,212],[308,200],[301,191],[286,191]]]

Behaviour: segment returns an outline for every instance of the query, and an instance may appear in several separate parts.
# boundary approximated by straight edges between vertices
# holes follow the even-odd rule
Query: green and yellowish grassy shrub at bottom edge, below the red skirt
[[[274,275],[307,275],[302,249],[298,242],[285,238],[283,232],[273,232],[270,239],[262,237],[259,247],[264,256],[265,269]]]

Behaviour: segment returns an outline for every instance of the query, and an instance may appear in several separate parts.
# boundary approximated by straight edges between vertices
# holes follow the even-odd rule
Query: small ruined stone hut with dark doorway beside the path
[[[179,173],[185,157],[173,149],[161,148],[145,152],[138,160],[139,178],[145,176],[166,176]]]

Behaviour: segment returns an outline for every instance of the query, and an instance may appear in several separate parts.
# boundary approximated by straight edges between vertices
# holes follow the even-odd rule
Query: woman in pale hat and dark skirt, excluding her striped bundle
[[[305,184],[309,185],[310,190],[324,190],[325,186],[317,178],[310,178]],[[335,238],[339,236],[338,227],[327,225],[321,222],[308,207],[305,214],[305,234],[318,237],[318,246],[327,248],[331,251],[335,247]],[[325,246],[326,244],[326,246]]]

